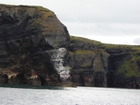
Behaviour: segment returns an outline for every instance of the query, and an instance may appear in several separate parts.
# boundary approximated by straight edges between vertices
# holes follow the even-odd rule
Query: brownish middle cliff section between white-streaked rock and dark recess
[[[107,86],[106,70],[110,54],[102,43],[71,36],[68,49],[72,82],[80,86]]]

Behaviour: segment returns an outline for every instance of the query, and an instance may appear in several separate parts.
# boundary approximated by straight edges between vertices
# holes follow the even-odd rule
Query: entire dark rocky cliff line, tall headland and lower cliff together
[[[0,5],[0,83],[140,87],[140,46],[70,36],[49,9]]]

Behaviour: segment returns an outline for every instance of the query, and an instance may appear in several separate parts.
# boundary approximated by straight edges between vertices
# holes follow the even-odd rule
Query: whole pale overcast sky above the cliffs
[[[52,10],[69,34],[102,43],[140,45],[140,0],[0,0]]]

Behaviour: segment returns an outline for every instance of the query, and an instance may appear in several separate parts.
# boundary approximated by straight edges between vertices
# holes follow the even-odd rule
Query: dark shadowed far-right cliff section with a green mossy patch
[[[107,45],[107,86],[119,88],[140,88],[140,46]]]

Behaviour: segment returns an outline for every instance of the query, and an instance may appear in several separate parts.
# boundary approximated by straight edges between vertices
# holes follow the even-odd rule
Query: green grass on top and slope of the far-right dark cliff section
[[[117,73],[124,74],[126,77],[140,77],[140,46],[137,45],[115,45],[104,44],[105,49],[112,55],[127,55],[128,58],[122,60]]]

